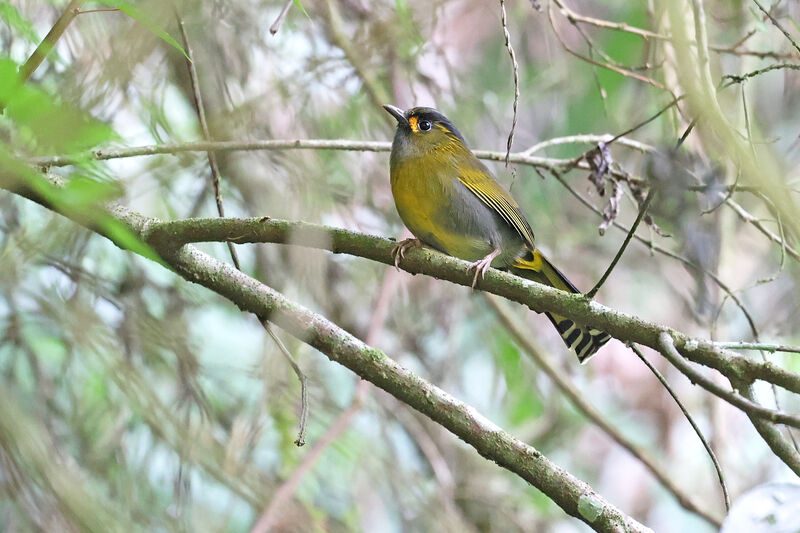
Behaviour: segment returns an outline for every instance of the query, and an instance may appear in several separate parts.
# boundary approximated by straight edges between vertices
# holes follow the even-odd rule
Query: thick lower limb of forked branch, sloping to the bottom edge
[[[438,422],[478,453],[519,475],[596,531],[646,530],[535,448],[515,439],[471,406],[424,381],[324,317],[194,247],[184,247],[165,259],[184,278],[228,298],[244,311],[268,318],[332,361]]]

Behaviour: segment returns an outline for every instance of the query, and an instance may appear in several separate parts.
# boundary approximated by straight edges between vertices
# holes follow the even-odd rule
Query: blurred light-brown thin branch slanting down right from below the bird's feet
[[[714,516],[713,513],[702,509],[700,505],[694,501],[691,495],[685,493],[680,487],[678,487],[675,482],[669,477],[669,474],[659,466],[657,460],[644,448],[639,447],[630,439],[628,439],[624,434],[622,434],[619,429],[614,425],[613,422],[606,419],[605,416],[600,413],[592,404],[586,401],[584,396],[580,393],[579,390],[573,385],[569,378],[559,370],[558,365],[555,364],[551,360],[551,358],[547,355],[544,350],[540,350],[537,346],[534,345],[533,341],[531,341],[531,336],[528,333],[525,333],[517,324],[517,321],[511,316],[511,314],[506,310],[505,306],[503,306],[499,299],[491,294],[484,294],[486,300],[489,302],[489,305],[494,309],[495,314],[499,318],[500,322],[506,328],[506,330],[511,333],[514,337],[514,340],[517,344],[525,350],[531,359],[536,363],[542,371],[547,374],[553,383],[561,390],[561,392],[566,396],[572,405],[575,408],[583,413],[583,415],[588,418],[592,423],[594,423],[597,427],[603,430],[614,442],[619,444],[621,447],[626,449],[633,455],[636,459],[638,459],[644,466],[647,468],[655,478],[664,486],[667,491],[669,491],[675,499],[678,500],[678,503],[681,504],[686,510],[697,514],[698,516],[703,517],[708,522],[714,524],[716,527],[720,526],[720,519]]]

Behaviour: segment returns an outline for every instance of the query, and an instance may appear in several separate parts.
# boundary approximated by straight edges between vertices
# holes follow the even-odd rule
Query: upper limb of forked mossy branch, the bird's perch
[[[180,246],[191,242],[210,241],[291,243],[394,265],[391,254],[394,241],[317,224],[288,222],[268,217],[160,222],[148,229],[147,241],[156,249],[167,245]],[[427,248],[415,248],[405,255],[400,267],[411,274],[426,274],[470,286],[472,276],[467,272],[467,264],[466,261]],[[729,378],[744,381],[762,379],[800,393],[800,376],[773,363],[747,359],[720,349],[710,341],[694,339],[660,324],[610,309],[579,294],[566,294],[564,291],[495,269],[490,269],[486,277],[478,281],[478,288],[526,305],[536,312],[550,311],[583,324],[591,324],[617,339],[643,344],[656,351],[660,351],[658,336],[666,331],[675,339],[678,350],[691,361],[714,368]],[[759,416],[800,427],[798,416],[758,407]]]

